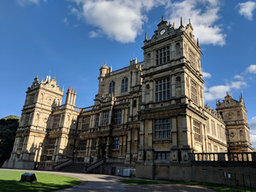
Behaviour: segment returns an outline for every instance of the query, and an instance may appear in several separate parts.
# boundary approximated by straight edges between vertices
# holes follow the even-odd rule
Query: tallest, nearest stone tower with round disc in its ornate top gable
[[[202,152],[202,53],[193,30],[182,18],[178,28],[162,18],[145,36],[138,162],[186,162],[191,151]]]

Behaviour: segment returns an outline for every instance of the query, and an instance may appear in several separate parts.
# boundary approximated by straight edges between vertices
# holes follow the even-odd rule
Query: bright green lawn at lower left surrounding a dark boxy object
[[[53,191],[76,186],[81,183],[78,178],[56,174],[34,173],[38,182],[19,182],[26,171],[0,170],[0,191]]]

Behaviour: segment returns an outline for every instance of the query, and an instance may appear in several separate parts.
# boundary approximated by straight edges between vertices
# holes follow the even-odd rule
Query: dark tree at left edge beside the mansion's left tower
[[[0,166],[10,158],[20,118],[9,115],[0,119]]]

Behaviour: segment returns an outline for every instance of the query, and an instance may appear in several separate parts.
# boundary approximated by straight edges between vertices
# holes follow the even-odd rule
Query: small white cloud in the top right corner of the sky
[[[253,12],[256,9],[256,2],[248,1],[238,3],[238,13],[249,20],[253,20]]]

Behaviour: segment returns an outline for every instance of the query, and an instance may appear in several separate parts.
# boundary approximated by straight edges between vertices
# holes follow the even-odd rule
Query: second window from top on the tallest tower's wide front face
[[[155,101],[162,102],[170,99],[170,77],[155,81]]]

